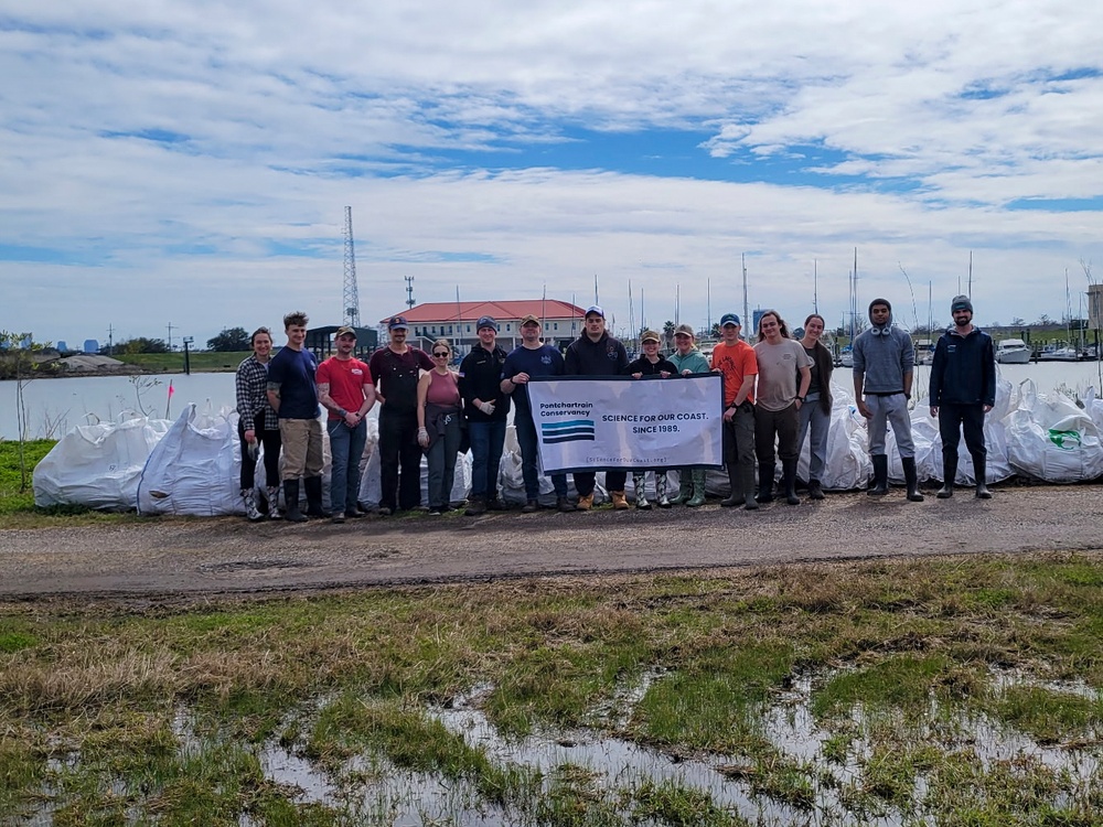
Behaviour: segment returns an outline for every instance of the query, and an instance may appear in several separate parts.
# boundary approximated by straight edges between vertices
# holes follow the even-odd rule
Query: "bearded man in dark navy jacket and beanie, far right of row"
[[[973,326],[973,302],[959,296],[950,303],[954,324],[934,348],[931,365],[931,416],[942,437],[942,487],[939,500],[953,496],[961,432],[973,458],[976,496],[988,500],[984,415],[996,404],[996,352],[989,336]]]

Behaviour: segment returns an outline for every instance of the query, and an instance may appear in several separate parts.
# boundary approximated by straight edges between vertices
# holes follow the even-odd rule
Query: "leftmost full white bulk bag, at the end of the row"
[[[34,504],[137,508],[142,469],[171,425],[136,416],[77,426],[35,466]]]

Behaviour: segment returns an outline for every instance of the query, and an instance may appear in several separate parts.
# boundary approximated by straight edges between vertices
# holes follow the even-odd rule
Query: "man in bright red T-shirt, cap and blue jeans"
[[[330,412],[325,423],[330,432],[330,516],[334,523],[361,516],[356,506],[360,493],[360,458],[367,441],[364,417],[375,405],[375,384],[367,365],[353,358],[356,331],[339,327],[338,352],[318,366],[318,399]]]

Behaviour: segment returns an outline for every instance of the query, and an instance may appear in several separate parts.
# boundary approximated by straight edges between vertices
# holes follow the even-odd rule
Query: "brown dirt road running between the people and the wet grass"
[[[0,598],[201,597],[797,560],[1103,548],[1103,488],[828,496],[758,512],[515,512],[332,525],[240,518],[0,531]]]

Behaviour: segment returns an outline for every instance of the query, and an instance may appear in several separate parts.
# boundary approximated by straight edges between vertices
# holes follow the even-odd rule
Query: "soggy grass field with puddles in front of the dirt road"
[[[1097,554],[0,605],[0,813],[1086,827],[1101,636]]]

